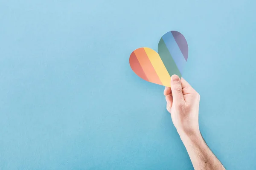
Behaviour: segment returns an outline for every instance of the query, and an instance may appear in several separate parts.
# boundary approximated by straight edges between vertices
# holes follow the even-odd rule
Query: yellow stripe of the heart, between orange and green
[[[166,67],[164,66],[159,54],[151,48],[145,47],[144,49],[163,85],[171,87],[171,77],[166,70]]]

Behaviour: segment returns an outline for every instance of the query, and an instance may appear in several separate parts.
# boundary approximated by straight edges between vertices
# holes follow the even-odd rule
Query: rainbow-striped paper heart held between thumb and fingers
[[[171,76],[183,74],[188,52],[185,37],[178,31],[169,31],[161,37],[158,53],[151,48],[138,48],[131,53],[129,62],[140,78],[170,87]]]

